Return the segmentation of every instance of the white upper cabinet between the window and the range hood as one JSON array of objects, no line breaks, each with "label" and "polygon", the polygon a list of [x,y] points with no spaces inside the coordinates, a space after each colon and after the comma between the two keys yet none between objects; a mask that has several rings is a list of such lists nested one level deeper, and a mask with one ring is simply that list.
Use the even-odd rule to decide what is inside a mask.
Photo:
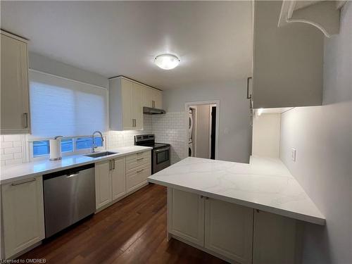
[{"label": "white upper cabinet between the window and the range hood", "polygon": [[142,86],[124,77],[109,82],[111,130],[142,130]]}]

